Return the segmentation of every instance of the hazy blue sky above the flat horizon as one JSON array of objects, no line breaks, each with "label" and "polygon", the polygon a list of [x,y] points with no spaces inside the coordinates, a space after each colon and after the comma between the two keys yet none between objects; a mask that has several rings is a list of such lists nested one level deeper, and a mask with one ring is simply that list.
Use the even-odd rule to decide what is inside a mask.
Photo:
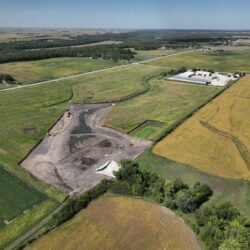
[{"label": "hazy blue sky above the flat horizon", "polygon": [[0,27],[250,29],[250,0],[0,0]]}]

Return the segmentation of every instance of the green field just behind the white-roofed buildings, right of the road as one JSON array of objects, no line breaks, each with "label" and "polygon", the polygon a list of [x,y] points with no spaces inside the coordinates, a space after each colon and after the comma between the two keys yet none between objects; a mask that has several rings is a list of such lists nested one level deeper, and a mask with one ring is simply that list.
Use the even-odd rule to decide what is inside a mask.
[{"label": "green field just behind the white-roofed buildings, right of the road", "polygon": [[250,50],[193,52],[148,62],[149,65],[213,69],[221,72],[250,72]]}]

